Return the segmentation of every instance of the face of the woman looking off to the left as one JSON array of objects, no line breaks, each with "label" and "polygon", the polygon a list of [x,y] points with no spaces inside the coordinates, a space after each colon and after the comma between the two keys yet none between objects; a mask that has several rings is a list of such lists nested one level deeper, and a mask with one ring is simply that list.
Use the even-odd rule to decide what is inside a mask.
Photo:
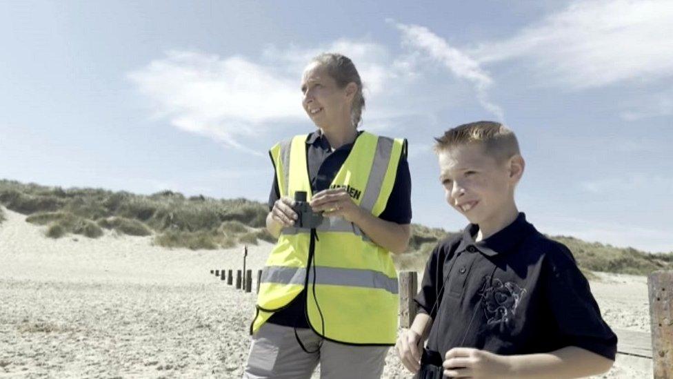
[{"label": "face of the woman looking off to the left", "polygon": [[322,64],[313,62],[306,67],[301,78],[301,92],[301,104],[319,128],[350,124],[352,90],[349,86],[339,88]]}]

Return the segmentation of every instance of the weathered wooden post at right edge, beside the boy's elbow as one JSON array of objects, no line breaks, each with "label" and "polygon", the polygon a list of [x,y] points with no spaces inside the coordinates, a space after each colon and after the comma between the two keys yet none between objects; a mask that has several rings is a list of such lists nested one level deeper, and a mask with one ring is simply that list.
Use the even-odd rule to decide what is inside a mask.
[{"label": "weathered wooden post at right edge, beside the boy's elbow", "polygon": [[654,379],[673,378],[673,271],[647,276]]}]

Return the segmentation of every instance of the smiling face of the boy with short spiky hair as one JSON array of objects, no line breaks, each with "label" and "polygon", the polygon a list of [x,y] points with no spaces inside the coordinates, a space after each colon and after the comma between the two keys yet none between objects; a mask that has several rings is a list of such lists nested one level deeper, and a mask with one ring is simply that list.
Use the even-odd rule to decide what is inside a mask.
[{"label": "smiling face of the boy with short spiky hair", "polygon": [[[454,146],[437,156],[446,201],[472,224],[490,224],[514,205],[514,186],[523,172],[520,156],[497,162],[481,144]],[[513,159],[521,159],[519,172]]]}]

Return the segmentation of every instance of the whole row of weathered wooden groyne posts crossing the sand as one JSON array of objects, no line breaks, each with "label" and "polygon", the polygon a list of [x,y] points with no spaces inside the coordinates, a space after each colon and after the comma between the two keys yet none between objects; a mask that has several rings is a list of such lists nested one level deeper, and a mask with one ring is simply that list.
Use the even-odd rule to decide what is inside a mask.
[{"label": "whole row of weathered wooden groyne posts crossing the sand", "polygon": [[[210,273],[233,284],[232,270]],[[257,271],[257,293],[262,271]],[[252,270],[237,270],[236,288],[252,292]],[[647,277],[650,297],[651,333],[614,329],[619,340],[617,353],[632,360],[652,362],[654,379],[673,378],[673,271],[656,271]],[[399,273],[400,326],[408,328],[416,317],[418,274]]]}]

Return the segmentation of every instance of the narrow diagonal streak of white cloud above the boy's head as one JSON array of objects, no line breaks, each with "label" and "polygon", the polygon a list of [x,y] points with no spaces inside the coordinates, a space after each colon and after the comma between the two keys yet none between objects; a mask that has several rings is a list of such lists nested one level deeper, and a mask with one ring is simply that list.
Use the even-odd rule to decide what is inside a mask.
[{"label": "narrow diagonal streak of white cloud above the boy's head", "polygon": [[[432,59],[439,61],[445,68],[448,68],[455,77],[469,81],[476,90],[481,106],[496,115],[500,121],[504,121],[503,109],[488,99],[488,88],[493,84],[493,79],[488,75],[488,72],[481,68],[478,61],[472,59],[465,52],[450,46],[445,39],[434,34],[428,28],[403,23],[394,23],[394,25],[401,30],[402,41],[405,46],[425,52]],[[418,59],[417,55],[411,55],[410,57]],[[401,64],[408,65],[408,62],[401,61]]]}]

